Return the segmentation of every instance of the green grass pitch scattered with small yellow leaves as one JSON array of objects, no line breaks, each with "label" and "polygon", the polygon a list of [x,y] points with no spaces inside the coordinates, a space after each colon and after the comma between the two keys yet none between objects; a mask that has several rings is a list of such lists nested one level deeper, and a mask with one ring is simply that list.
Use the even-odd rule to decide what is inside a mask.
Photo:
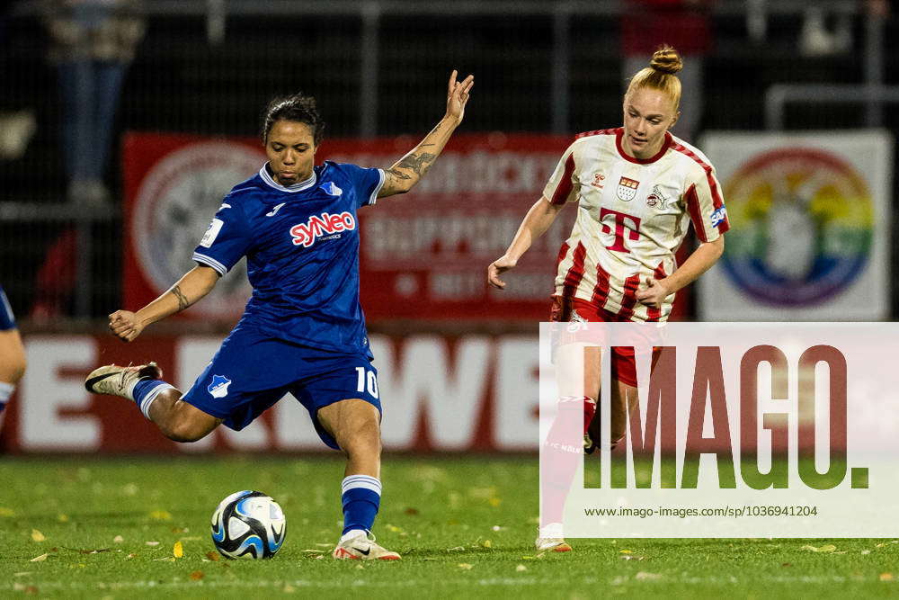
[{"label": "green grass pitch scattered with small yellow leaves", "polygon": [[[403,560],[362,563],[330,558],[342,518],[336,454],[6,457],[0,597],[899,594],[899,542],[889,539],[574,540],[574,552],[538,555],[536,457],[387,456],[384,463],[375,533]],[[218,559],[209,539],[218,501],[246,488],[275,497],[287,515],[287,541],[273,560]]]}]

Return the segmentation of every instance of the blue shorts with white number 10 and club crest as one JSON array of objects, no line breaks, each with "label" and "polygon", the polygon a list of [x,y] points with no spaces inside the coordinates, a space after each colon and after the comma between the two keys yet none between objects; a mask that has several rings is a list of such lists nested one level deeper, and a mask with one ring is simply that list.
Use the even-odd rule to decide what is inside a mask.
[{"label": "blue shorts with white number 10 and club crest", "polygon": [[291,344],[238,325],[182,400],[239,431],[290,392],[309,411],[318,436],[340,447],[318,409],[346,399],[378,408],[378,371],[365,354],[335,354]]}]

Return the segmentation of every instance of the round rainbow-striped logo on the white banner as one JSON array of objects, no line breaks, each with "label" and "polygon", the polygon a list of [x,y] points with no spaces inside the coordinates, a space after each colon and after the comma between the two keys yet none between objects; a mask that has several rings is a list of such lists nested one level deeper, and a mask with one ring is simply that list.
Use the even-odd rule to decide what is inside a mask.
[{"label": "round rainbow-striped logo on the white banner", "polygon": [[724,187],[731,229],[722,264],[753,299],[818,304],[868,264],[871,195],[841,157],[816,148],[773,150],[752,157]]}]

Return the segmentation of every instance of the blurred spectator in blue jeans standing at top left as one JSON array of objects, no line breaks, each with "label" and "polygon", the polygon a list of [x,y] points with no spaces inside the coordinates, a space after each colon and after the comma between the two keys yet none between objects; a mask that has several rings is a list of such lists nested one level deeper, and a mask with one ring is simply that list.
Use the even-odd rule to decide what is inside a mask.
[{"label": "blurred spectator in blue jeans standing at top left", "polygon": [[49,59],[63,103],[68,200],[103,205],[103,173],[125,72],[143,37],[139,0],[49,0]]}]

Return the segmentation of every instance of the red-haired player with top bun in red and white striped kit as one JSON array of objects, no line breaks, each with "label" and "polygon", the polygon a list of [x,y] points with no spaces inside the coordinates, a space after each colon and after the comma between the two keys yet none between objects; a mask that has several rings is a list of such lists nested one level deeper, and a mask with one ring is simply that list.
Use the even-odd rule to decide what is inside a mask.
[{"label": "red-haired player with top bun in red and white striped kit", "polygon": [[[663,322],[674,294],[705,273],[724,252],[729,227],[715,169],[697,148],[669,131],[678,119],[683,62],[675,49],[655,51],[624,95],[623,127],[582,133],[565,150],[543,196],[528,211],[506,253],[487,267],[487,279],[502,289],[500,275],[517,264],[569,202],[577,203],[571,236],[559,251],[550,320],[556,322]],[[692,223],[699,247],[678,265],[674,253]],[[556,354],[556,364],[574,354]],[[584,448],[599,441],[593,416],[600,390],[600,348],[583,345],[583,395],[565,396],[559,410],[582,410]],[[567,358],[566,358],[567,357]],[[612,357],[610,439],[625,432],[628,396],[636,399],[633,353]],[[582,382],[578,381],[580,390]],[[636,402],[632,400],[632,406]],[[598,429],[598,427],[595,427]],[[588,434],[588,431],[590,434]],[[550,430],[552,435],[552,430]],[[543,485],[539,551],[570,551],[562,532],[562,508],[575,461],[562,461],[556,486]],[[570,473],[567,471],[571,471]]]}]

